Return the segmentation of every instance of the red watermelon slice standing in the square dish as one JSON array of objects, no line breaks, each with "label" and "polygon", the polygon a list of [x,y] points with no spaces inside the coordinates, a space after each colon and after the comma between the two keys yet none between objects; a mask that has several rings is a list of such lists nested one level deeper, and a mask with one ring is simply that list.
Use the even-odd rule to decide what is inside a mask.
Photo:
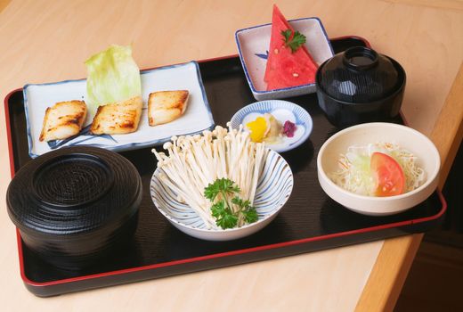
[{"label": "red watermelon slice standing in the square dish", "polygon": [[272,37],[264,75],[267,91],[315,82],[317,63],[313,61],[304,45],[295,52],[285,46],[285,38],[281,32],[288,29],[291,30],[291,38],[294,37],[294,29],[279,8],[273,4]]}]

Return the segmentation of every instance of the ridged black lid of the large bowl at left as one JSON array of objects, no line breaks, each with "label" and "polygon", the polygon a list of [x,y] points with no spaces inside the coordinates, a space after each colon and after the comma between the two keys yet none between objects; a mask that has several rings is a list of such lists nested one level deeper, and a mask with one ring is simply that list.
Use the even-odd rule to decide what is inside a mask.
[{"label": "ridged black lid of the large bowl at left", "polygon": [[122,226],[141,199],[134,165],[116,152],[78,146],[30,160],[8,186],[12,222],[34,234],[86,234]]}]

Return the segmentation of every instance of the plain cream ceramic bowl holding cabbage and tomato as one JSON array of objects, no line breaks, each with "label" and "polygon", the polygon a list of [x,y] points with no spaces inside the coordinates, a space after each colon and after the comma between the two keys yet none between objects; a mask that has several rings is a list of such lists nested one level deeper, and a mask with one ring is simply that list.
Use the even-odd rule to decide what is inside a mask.
[{"label": "plain cream ceramic bowl holding cabbage and tomato", "polygon": [[[374,197],[348,192],[329,179],[327,174],[337,171],[339,154],[345,153],[349,146],[378,142],[399,144],[416,155],[418,165],[426,172],[425,183],[408,193]],[[318,179],[323,191],[345,208],[370,216],[396,214],[425,201],[437,187],[440,166],[439,152],[426,135],[410,127],[382,122],[361,124],[339,131],[321,146],[317,157]]]}]

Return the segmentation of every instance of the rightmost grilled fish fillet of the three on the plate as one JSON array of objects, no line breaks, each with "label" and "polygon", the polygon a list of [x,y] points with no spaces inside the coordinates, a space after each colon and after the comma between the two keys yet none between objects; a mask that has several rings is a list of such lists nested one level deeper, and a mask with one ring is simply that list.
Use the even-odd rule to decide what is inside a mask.
[{"label": "rightmost grilled fish fillet of the three on the plate", "polygon": [[187,90],[150,93],[148,99],[148,123],[150,126],[166,124],[182,116],[186,110],[188,95]]}]

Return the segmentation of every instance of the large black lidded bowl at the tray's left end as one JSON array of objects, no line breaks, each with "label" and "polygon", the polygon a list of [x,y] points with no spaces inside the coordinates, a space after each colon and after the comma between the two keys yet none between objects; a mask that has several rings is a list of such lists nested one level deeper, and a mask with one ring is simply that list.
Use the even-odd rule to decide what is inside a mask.
[{"label": "large black lidded bowl at the tray's left end", "polygon": [[142,179],[116,152],[65,147],[30,160],[6,193],[22,241],[55,267],[79,270],[129,242],[138,221]]}]

